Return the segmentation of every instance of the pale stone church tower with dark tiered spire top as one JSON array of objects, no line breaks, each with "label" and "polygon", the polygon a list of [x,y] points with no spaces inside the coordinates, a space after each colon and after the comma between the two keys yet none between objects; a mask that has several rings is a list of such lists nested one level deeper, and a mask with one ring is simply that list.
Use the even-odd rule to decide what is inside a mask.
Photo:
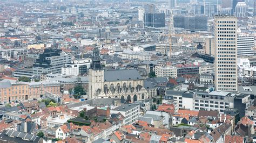
[{"label": "pale stone church tower with dark tiered spire top", "polygon": [[100,89],[103,87],[104,70],[100,65],[99,49],[93,49],[91,68],[89,69],[89,95],[88,99],[97,98]]}]

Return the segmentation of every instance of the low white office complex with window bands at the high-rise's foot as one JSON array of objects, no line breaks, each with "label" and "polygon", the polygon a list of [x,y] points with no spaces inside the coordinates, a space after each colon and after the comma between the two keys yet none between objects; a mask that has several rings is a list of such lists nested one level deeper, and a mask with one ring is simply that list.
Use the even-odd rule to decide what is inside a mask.
[{"label": "low white office complex with window bands at the high-rise's foot", "polygon": [[[226,91],[196,91],[196,92],[182,92],[167,90],[166,96],[172,98],[177,102],[179,109],[185,108],[190,110],[212,110],[218,111],[221,114],[227,109],[239,108],[239,106],[244,106],[244,103],[249,104],[250,101],[252,105],[252,99],[246,96],[245,99],[243,94],[233,94],[232,92]],[[241,98],[244,99],[241,101]],[[235,101],[237,99],[237,102]],[[240,103],[235,105],[235,103]],[[241,104],[242,103],[242,104]],[[245,108],[244,108],[245,111]]]}]

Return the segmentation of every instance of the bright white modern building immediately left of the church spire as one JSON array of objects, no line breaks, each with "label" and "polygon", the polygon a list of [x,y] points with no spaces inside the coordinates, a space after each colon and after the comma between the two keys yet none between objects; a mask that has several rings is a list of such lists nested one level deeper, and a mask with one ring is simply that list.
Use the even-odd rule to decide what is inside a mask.
[{"label": "bright white modern building immediately left of the church spire", "polygon": [[64,67],[62,67],[63,75],[84,75],[87,74],[90,68],[92,60],[90,58],[87,59],[79,59],[71,61],[71,63],[66,63]]}]

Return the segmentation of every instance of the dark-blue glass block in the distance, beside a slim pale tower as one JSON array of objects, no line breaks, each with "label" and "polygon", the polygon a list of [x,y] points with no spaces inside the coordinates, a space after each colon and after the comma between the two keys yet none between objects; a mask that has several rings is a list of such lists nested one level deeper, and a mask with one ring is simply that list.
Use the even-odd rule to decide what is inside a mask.
[{"label": "dark-blue glass block in the distance, beside a slim pale tower", "polygon": [[164,27],[165,13],[144,13],[144,26]]}]

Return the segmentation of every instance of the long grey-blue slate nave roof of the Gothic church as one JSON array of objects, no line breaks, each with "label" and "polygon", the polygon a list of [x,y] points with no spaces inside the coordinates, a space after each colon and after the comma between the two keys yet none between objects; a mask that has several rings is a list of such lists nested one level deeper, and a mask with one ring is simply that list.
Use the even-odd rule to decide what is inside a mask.
[{"label": "long grey-blue slate nave roof of the Gothic church", "polygon": [[143,80],[136,69],[104,71],[104,82]]}]

